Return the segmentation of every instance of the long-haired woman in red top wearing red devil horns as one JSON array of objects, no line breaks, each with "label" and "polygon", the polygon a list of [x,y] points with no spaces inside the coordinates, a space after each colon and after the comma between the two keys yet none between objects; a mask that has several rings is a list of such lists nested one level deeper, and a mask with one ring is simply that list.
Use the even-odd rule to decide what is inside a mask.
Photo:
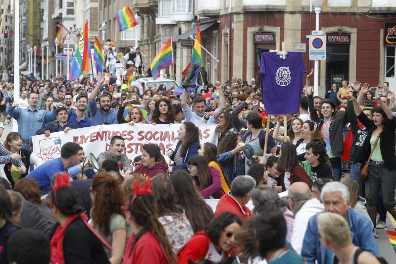
[{"label": "long-haired woman in red top wearing red devil horns", "polygon": [[176,264],[172,247],[165,237],[165,231],[152,209],[153,197],[150,180],[141,186],[133,182],[134,195],[124,210],[125,219],[133,233],[125,249],[123,264]]}]

